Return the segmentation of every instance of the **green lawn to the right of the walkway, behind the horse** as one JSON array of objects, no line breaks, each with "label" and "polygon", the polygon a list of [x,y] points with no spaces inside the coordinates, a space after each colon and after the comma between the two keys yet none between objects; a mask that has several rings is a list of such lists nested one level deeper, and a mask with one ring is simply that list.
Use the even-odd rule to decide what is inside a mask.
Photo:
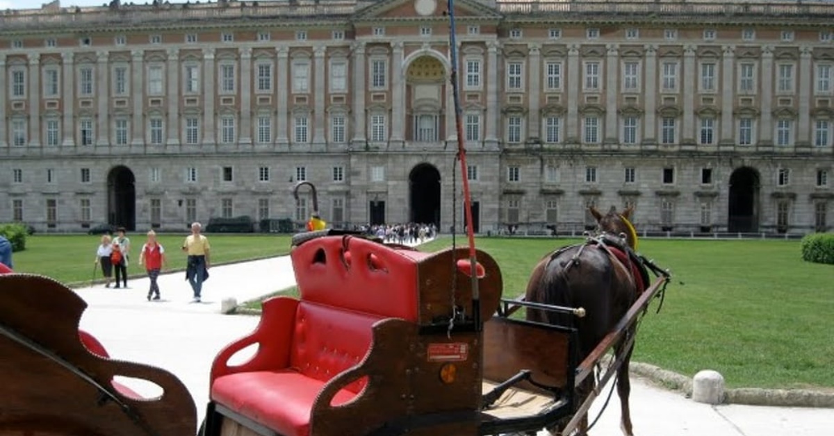
[{"label": "green lawn to the right of the walkway, behind the horse", "polygon": [[[505,297],[515,297],[536,261],[570,242],[476,245],[499,263]],[[421,249],[447,246],[443,238]],[[669,268],[672,283],[661,313],[641,324],[636,361],[690,376],[715,369],[730,387],[834,388],[834,268],[803,262],[798,241],[646,239],[640,251]]]}]

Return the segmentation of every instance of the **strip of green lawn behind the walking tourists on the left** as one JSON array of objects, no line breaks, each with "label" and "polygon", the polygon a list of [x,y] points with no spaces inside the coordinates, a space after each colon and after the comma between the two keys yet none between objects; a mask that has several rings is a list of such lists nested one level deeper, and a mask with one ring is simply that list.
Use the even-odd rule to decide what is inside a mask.
[{"label": "strip of green lawn behind the walking tourists on the left", "polygon": [[[161,234],[158,241],[168,256],[170,269],[185,268],[185,253],[180,249],[186,233]],[[207,234],[211,243],[211,261],[214,265],[254,258],[267,258],[289,253],[287,235],[271,234]],[[144,274],[139,266],[139,250],[147,237],[144,234],[128,234],[131,243],[131,259],[128,277]],[[93,278],[93,261],[100,236],[88,235],[38,235],[27,238],[26,250],[14,253],[14,269],[21,273],[39,273],[55,278],[69,286],[87,286]],[[96,273],[101,278],[101,269]]]}]

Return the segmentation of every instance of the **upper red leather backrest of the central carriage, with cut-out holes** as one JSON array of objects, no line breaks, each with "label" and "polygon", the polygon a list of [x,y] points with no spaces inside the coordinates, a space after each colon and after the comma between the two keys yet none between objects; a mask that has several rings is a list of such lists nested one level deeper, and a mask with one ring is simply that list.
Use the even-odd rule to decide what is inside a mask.
[{"label": "upper red leather backrest of the central carriage, with cut-out holes", "polygon": [[311,239],[291,253],[301,299],[407,321],[417,320],[422,257],[341,236]]}]

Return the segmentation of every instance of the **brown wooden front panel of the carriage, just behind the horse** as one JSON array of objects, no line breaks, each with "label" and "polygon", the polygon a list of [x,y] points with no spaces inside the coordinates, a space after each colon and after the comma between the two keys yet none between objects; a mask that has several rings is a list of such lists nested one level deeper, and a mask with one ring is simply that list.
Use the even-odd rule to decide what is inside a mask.
[{"label": "brown wooden front panel of the carriage, just behind the horse", "polygon": [[[484,324],[484,379],[502,382],[523,369],[536,383],[563,388],[567,384],[569,333],[553,327],[495,317]],[[519,388],[546,393],[530,383]]]}]

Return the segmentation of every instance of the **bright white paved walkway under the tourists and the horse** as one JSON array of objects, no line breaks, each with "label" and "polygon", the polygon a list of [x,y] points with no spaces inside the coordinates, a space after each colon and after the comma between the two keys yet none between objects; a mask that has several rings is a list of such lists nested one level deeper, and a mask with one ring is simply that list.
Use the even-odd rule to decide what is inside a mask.
[{"label": "bright white paved walkway under the tourists and the horse", "polygon": [[[254,316],[220,314],[220,301],[231,297],[243,302],[295,283],[289,257],[215,266],[210,273],[203,303],[190,303],[192,293],[184,273],[159,278],[160,302],[146,300],[148,278],[128,281],[128,289],[103,285],[77,289],[89,304],[81,327],[96,335],[113,358],[152,364],[177,375],[192,393],[200,420],[215,354],[259,321]],[[155,393],[147,385],[128,384],[141,393]],[[591,418],[607,393],[606,387]],[[834,409],[709,406],[640,379],[632,380],[631,411],[639,436],[823,436],[834,428]],[[614,394],[592,434],[620,436],[619,420],[620,404]]]}]

